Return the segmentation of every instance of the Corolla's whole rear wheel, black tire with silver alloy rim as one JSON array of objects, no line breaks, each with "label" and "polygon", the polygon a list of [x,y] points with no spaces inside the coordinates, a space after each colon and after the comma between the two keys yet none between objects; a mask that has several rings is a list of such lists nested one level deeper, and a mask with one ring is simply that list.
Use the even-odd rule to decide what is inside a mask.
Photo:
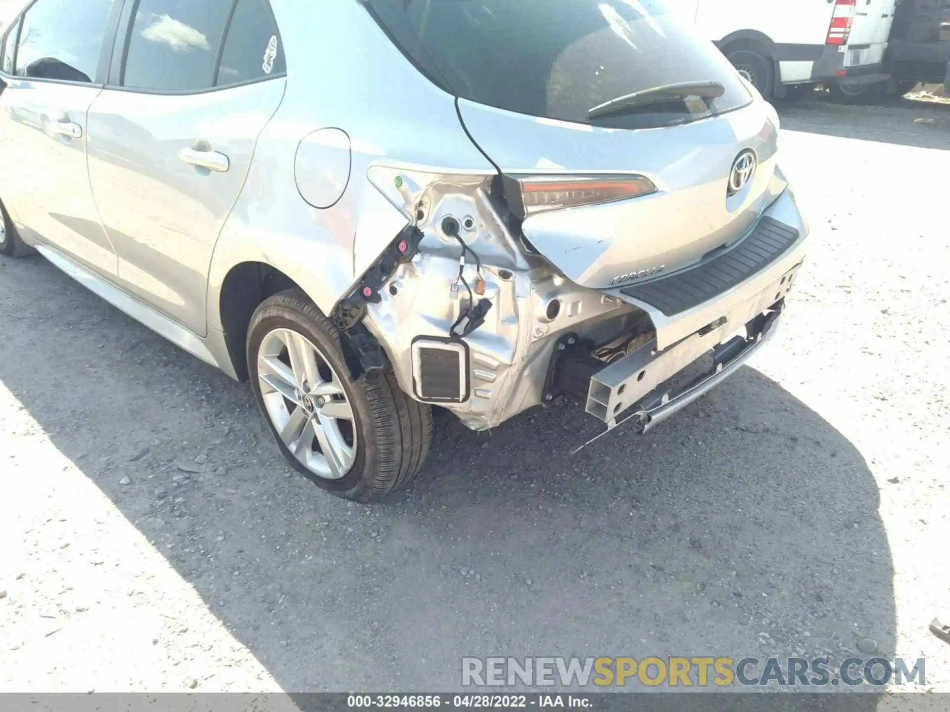
[{"label": "Corolla's whole rear wheel, black tire with silver alloy rim", "polygon": [[431,409],[410,399],[390,369],[353,379],[340,332],[301,290],[257,308],[247,352],[277,447],[318,487],[370,502],[418,473],[431,442]]}]

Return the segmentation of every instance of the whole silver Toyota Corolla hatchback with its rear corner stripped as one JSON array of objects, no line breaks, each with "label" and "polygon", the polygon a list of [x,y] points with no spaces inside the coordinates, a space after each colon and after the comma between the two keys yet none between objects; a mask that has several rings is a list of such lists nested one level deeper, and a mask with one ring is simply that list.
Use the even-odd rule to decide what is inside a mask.
[{"label": "whole silver Toyota Corolla hatchback with its rear corner stripped", "polygon": [[34,0],[0,250],[249,380],[341,497],[416,474],[433,404],[646,431],[769,340],[807,235],[775,112],[675,6]]}]

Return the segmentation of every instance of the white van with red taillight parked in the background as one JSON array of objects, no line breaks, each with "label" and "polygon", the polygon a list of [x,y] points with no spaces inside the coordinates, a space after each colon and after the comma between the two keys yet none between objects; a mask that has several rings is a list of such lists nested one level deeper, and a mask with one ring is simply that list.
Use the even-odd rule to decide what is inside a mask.
[{"label": "white van with red taillight parked in the background", "polygon": [[883,55],[898,0],[669,0],[764,97],[821,82],[860,92],[887,79]]}]

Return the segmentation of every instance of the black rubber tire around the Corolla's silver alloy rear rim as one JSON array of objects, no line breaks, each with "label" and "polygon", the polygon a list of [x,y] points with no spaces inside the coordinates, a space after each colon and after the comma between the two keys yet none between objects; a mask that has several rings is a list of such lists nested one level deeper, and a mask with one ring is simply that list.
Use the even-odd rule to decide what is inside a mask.
[{"label": "black rubber tire around the Corolla's silver alloy rear rim", "polygon": [[[357,443],[355,461],[343,478],[321,478],[311,472],[294,457],[271,422],[257,379],[257,353],[264,337],[276,328],[292,329],[309,339],[343,382]],[[275,294],[251,317],[247,338],[251,386],[280,452],[295,470],[337,497],[377,501],[407,485],[419,472],[432,440],[432,411],[402,391],[390,368],[353,380],[340,338],[339,330],[302,290]]]}]

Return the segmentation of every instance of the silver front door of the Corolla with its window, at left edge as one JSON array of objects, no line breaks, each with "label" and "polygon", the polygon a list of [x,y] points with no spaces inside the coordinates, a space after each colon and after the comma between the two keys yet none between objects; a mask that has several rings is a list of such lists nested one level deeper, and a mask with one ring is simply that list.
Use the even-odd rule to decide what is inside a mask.
[{"label": "silver front door of the Corolla with its window, at left edge", "polygon": [[116,258],[89,190],[85,151],[117,5],[37,0],[8,38],[0,96],[0,196],[34,240],[106,277],[115,275]]}]

